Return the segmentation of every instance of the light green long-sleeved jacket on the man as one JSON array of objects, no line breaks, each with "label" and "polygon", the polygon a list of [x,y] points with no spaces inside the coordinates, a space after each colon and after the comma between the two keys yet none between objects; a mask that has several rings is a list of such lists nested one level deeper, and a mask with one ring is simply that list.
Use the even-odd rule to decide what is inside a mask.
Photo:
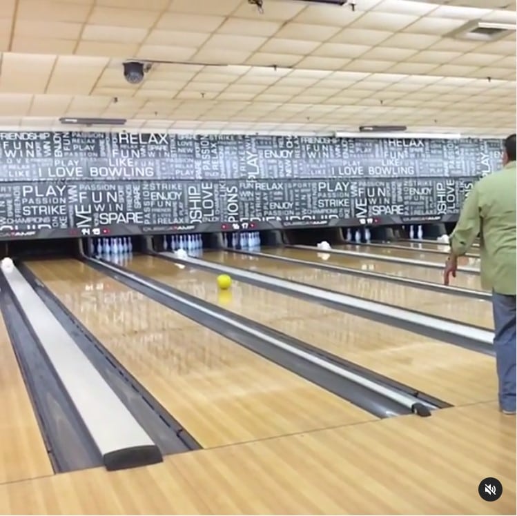
[{"label": "light green long-sleeved jacket on the man", "polygon": [[481,284],[498,294],[516,294],[516,162],[483,177],[469,192],[451,238],[465,255],[480,235]]}]

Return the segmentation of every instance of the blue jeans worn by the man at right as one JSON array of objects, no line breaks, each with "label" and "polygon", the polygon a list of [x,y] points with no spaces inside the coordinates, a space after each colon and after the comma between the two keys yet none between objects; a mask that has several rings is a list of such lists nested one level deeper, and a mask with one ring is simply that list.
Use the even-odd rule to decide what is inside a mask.
[{"label": "blue jeans worn by the man at right", "polygon": [[494,312],[494,348],[496,349],[499,379],[499,406],[502,410],[516,410],[516,297],[492,292]]}]

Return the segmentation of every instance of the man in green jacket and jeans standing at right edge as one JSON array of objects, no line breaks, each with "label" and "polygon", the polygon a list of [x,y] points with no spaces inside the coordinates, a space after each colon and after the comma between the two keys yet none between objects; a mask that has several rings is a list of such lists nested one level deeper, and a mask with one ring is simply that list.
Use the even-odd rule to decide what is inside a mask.
[{"label": "man in green jacket and jeans standing at right edge", "polygon": [[492,291],[499,407],[516,413],[516,135],[505,140],[503,170],[474,185],[450,238],[444,284],[456,277],[458,256],[480,235],[481,283]]}]

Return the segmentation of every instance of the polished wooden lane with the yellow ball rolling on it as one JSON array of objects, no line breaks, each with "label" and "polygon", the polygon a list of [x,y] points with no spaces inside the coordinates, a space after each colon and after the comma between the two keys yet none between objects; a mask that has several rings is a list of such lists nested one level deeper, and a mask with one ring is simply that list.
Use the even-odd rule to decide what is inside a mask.
[{"label": "polished wooden lane with the yellow ball rolling on it", "polygon": [[241,281],[220,292],[215,274],[155,257],[135,257],[126,267],[451,404],[496,396],[494,359],[487,355]]}]

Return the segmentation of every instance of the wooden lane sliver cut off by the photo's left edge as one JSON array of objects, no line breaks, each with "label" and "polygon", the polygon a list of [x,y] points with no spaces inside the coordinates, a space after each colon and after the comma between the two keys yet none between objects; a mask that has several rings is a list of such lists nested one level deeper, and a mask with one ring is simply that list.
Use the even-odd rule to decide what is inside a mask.
[{"label": "wooden lane sliver cut off by the photo's left edge", "polygon": [[46,446],[0,315],[0,484],[52,475]]}]

